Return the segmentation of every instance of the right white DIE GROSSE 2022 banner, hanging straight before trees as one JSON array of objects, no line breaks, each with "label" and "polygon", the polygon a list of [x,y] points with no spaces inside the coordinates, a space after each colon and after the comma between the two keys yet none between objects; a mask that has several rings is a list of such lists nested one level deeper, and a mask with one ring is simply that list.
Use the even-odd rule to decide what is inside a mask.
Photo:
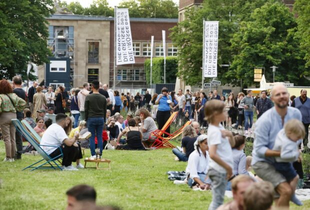
[{"label": "right white DIE GROSSE 2022 banner, hanging straight before trees", "polygon": [[217,77],[218,21],[204,21],[203,76]]}]

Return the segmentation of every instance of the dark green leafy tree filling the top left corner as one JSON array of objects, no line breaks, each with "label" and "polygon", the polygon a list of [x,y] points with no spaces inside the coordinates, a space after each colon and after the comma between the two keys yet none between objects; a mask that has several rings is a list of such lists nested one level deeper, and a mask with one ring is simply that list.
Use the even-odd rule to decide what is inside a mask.
[{"label": "dark green leafy tree filling the top left corner", "polygon": [[[16,74],[26,78],[27,62],[49,62],[48,22],[52,0],[0,1],[0,74],[11,79]],[[34,76],[30,75],[30,79]]]}]

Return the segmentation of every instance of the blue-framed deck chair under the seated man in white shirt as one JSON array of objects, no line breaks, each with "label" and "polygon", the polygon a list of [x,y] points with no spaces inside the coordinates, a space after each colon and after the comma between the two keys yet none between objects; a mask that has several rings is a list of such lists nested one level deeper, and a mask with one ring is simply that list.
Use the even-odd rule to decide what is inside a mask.
[{"label": "blue-framed deck chair under the seated man in white shirt", "polygon": [[[43,157],[43,159],[23,168],[22,170],[26,168],[32,168],[31,170],[35,169],[56,169],[59,168],[62,170],[61,166],[57,164],[56,160],[63,156],[63,153],[61,151],[60,146],[51,146],[51,145],[42,145],[38,144],[35,139],[33,139],[33,136],[31,136],[29,130],[26,129],[26,127],[18,120],[18,119],[12,119],[12,123],[16,127],[16,130],[21,133],[25,137],[25,139],[36,149],[36,151]],[[32,133],[34,135],[34,133]],[[55,147],[60,148],[61,154],[58,156],[51,158],[43,149],[41,146],[48,146],[48,147]],[[43,161],[43,163],[42,163]],[[35,166],[36,164],[39,164]],[[47,164],[47,165],[46,165]],[[48,165],[49,164],[49,165]]]}]

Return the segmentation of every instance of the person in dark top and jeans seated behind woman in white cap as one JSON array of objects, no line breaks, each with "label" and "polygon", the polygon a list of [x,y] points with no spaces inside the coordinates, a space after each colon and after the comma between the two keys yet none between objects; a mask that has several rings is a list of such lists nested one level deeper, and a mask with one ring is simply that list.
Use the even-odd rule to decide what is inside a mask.
[{"label": "person in dark top and jeans seated behind woman in white cap", "polygon": [[178,148],[173,148],[172,152],[180,161],[186,162],[188,160],[191,152],[194,151],[194,142],[197,139],[197,134],[195,129],[190,125],[186,125],[182,131],[181,146],[183,151],[178,150]]}]

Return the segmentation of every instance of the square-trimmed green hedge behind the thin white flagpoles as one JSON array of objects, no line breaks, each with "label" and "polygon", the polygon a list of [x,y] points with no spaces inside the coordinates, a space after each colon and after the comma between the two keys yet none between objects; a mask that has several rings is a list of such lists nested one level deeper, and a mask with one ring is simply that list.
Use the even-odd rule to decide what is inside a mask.
[{"label": "square-trimmed green hedge behind the thin white flagpoles", "polygon": [[[177,72],[177,58],[173,56],[166,57],[166,83],[175,83]],[[164,78],[164,59],[163,57],[152,58],[152,83],[163,83]],[[144,61],[144,70],[146,82],[150,82],[150,59]]]}]

